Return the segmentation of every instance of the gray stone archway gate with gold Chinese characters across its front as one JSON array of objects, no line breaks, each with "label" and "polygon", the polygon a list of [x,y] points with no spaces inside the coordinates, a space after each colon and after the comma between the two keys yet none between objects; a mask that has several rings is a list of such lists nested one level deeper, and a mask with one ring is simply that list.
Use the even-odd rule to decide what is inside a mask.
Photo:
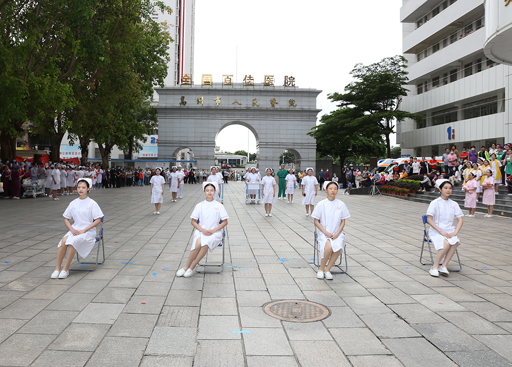
[{"label": "gray stone archway gate with gold Chinese characters across its front", "polygon": [[[256,137],[260,169],[279,166],[279,155],[292,149],[296,167],[313,167],[316,140],[309,135],[315,126],[316,97],[321,91],[275,85],[180,84],[155,88],[159,95],[158,158],[172,159],[186,146],[198,168],[215,163],[215,137],[225,126],[240,124]],[[235,137],[246,140],[247,137]],[[297,157],[297,154],[300,157]]]}]

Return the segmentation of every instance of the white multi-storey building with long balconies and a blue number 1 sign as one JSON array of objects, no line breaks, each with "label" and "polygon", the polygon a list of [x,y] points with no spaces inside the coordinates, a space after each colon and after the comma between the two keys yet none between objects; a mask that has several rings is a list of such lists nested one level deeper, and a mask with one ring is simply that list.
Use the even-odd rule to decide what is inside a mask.
[{"label": "white multi-storey building with long balconies and a blue number 1 sign", "polygon": [[400,20],[409,73],[401,109],[425,116],[398,124],[402,154],[512,141],[512,68],[484,52],[484,0],[403,0]]}]

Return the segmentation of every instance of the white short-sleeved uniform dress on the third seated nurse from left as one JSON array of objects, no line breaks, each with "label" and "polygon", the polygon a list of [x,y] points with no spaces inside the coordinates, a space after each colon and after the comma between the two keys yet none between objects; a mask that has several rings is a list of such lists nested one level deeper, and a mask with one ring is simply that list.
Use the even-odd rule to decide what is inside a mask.
[{"label": "white short-sleeved uniform dress on the third seated nurse from left", "polygon": [[[334,199],[330,201],[329,199],[324,199],[315,206],[315,210],[313,210],[311,216],[318,219],[327,232],[334,234],[340,229],[341,220],[350,218],[350,213],[345,203],[341,200]],[[340,235],[335,240],[327,239],[325,234],[320,230],[317,231],[317,233],[321,258],[323,258],[327,240],[331,241],[331,247],[334,252],[345,248],[345,232],[341,231]]]}]

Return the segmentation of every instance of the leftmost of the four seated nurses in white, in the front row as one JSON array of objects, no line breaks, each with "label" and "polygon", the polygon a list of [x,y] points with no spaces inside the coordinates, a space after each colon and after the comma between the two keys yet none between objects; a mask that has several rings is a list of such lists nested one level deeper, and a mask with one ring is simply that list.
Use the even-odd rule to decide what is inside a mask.
[{"label": "leftmost of the four seated nurses in white, in the front row", "polygon": [[[91,187],[91,179],[78,180],[77,190],[80,197],[69,203],[66,211],[62,214],[64,224],[69,231],[57,245],[57,265],[51,275],[52,279],[66,278],[69,275],[69,266],[73,262],[75,253],[78,252],[81,257],[87,257],[96,242],[95,227],[101,223],[103,212],[99,205],[87,196]],[[71,218],[73,218],[73,224],[69,222]],[[65,256],[67,256],[66,263],[61,270],[60,267]]]}]

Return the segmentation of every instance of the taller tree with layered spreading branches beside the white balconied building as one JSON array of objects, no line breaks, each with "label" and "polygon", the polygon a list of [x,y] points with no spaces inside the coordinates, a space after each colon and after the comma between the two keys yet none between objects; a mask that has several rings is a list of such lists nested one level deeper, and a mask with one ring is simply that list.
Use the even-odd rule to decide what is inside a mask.
[{"label": "taller tree with layered spreading branches beside the white balconied building", "polygon": [[400,110],[402,97],[407,95],[406,67],[403,56],[386,57],[369,66],[358,63],[350,72],[356,80],[345,87],[345,93],[329,95],[331,100],[339,102],[339,107],[353,107],[359,113],[354,120],[357,126],[378,127],[385,139],[387,158],[391,158],[390,134],[395,132],[395,124],[406,118],[415,121],[424,118]]}]

